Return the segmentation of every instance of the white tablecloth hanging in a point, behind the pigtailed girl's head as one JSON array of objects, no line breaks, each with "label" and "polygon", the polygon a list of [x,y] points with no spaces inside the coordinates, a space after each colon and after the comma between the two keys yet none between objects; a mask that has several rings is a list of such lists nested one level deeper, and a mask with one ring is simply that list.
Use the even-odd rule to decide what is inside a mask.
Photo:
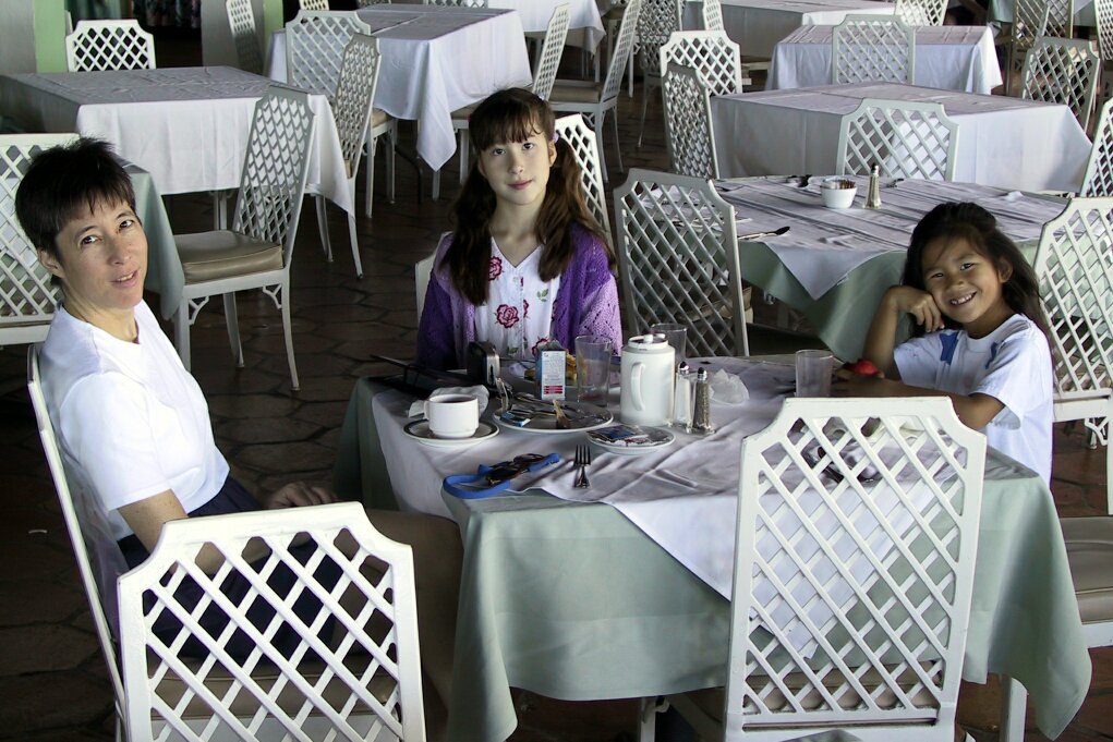
[{"label": "white tablecloth hanging in a point, behind the pigtailed girl's head", "polygon": [[[417,121],[417,154],[434,169],[456,151],[452,111],[533,81],[514,11],[400,4],[358,13],[383,55],[375,108]],[[267,76],[286,80],[283,31],[272,37]]]}]

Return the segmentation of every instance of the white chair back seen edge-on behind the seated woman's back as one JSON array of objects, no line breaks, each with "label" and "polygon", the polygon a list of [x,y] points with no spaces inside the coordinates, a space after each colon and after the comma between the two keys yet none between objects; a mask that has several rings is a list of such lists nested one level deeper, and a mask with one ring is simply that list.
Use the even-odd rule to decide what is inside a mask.
[{"label": "white chair back seen edge-on behind the seated woman's back", "polygon": [[73,557],[77,560],[78,573],[89,601],[89,612],[97,629],[100,650],[105,654],[108,675],[112,683],[114,703],[116,706],[116,739],[124,739],[121,728],[127,705],[124,695],[124,681],[120,676],[117,643],[119,636],[119,614],[116,601],[116,578],[127,572],[124,554],[116,545],[116,538],[108,525],[107,518],[98,508],[90,507],[81,486],[75,482],[70,487],[66,464],[55,426],[50,422],[47,400],[42,395],[42,379],[39,374],[39,346],[28,347],[27,354],[27,390],[35,408],[35,418],[39,426],[39,438],[42,441],[42,452],[47,456],[50,478],[55,483],[55,493],[61,506],[62,520],[69,534]]}]

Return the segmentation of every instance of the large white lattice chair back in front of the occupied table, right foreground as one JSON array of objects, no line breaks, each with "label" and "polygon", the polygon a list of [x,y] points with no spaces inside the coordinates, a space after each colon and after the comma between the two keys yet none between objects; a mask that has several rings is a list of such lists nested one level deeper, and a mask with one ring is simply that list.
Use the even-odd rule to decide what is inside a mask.
[{"label": "large white lattice chair back in front of the occupied table, right foreground", "polygon": [[725,739],[952,739],[984,466],[939,397],[788,399],[742,442]]}]

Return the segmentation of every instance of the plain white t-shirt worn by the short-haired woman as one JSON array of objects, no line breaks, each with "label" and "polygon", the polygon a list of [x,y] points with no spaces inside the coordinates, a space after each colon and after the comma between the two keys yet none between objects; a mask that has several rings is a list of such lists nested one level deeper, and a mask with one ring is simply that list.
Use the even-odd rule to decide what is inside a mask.
[{"label": "plain white t-shirt worn by the short-haired woman", "polygon": [[[76,484],[119,540],[117,508],[173,489],[190,513],[228,476],[208,405],[147,304],[127,343],[59,307],[42,346],[42,390]],[[75,493],[77,495],[77,493]]]}]

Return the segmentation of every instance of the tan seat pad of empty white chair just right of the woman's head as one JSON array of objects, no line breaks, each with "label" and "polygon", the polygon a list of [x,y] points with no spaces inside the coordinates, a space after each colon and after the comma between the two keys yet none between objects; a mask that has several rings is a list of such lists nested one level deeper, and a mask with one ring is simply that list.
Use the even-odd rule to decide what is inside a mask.
[{"label": "tan seat pad of empty white chair just right of the woman's head", "polygon": [[280,270],[282,246],[230,230],[175,235],[187,284]]}]

